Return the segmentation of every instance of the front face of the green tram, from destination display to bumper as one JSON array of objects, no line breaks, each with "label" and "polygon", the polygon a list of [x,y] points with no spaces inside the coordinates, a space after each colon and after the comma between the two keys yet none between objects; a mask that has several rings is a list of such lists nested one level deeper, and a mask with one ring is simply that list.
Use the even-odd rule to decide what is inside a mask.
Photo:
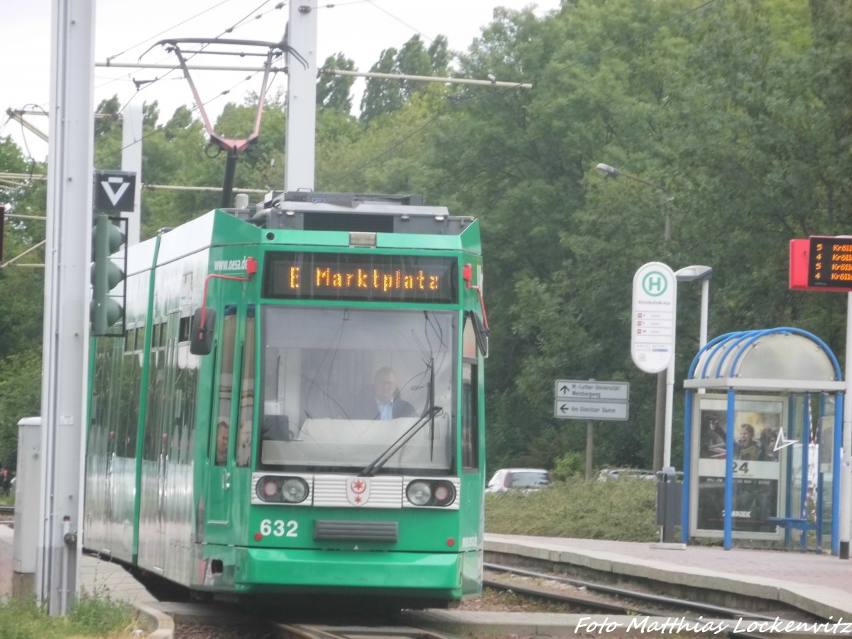
[{"label": "front face of the green tram, from destination display to bumper", "polygon": [[237,589],[431,607],[479,592],[458,256],[270,251],[265,262]]}]

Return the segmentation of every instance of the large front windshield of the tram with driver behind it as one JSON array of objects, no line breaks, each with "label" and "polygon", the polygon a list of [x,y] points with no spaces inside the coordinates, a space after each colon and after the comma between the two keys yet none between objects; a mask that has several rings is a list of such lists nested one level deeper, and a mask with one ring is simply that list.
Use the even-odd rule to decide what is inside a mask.
[{"label": "large front windshield of the tram with driver behind it", "polygon": [[455,318],[267,306],[260,467],[449,473]]}]

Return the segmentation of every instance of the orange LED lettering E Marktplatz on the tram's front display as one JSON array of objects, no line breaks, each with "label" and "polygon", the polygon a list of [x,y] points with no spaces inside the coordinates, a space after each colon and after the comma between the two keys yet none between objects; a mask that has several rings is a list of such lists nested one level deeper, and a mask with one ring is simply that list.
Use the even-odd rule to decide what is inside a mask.
[{"label": "orange LED lettering E Marktplatz on the tram's front display", "polygon": [[[291,266],[287,279],[291,290],[302,287],[302,268]],[[380,268],[357,268],[338,271],[332,268],[315,267],[311,277],[314,289],[338,289],[360,291],[438,291],[440,276],[418,270],[403,273],[399,269],[383,271]]]}]

